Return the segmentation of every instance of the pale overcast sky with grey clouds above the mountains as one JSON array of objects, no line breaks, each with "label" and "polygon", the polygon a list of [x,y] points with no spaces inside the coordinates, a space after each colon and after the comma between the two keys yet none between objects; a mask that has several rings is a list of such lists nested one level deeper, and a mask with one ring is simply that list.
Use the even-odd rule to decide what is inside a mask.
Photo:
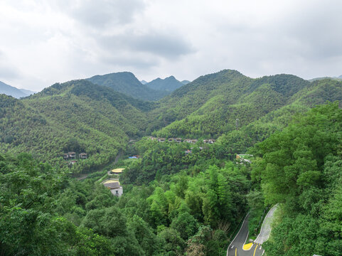
[{"label": "pale overcast sky with grey clouds above the mountains", "polygon": [[342,75],[341,0],[0,0],[0,81]]}]

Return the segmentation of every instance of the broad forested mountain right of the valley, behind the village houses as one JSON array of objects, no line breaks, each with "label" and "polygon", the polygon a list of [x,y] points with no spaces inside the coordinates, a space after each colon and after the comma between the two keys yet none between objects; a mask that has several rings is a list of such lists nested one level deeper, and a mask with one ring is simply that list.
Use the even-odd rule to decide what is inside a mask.
[{"label": "broad forested mountain right of the valley, behind the village houses", "polygon": [[225,134],[245,150],[282,129],[294,113],[327,100],[342,100],[341,89],[342,83],[335,80],[309,82],[294,75],[251,79],[223,70],[198,78],[162,99],[152,111],[156,119],[149,129],[159,130],[156,135],[160,137],[216,138]]}]

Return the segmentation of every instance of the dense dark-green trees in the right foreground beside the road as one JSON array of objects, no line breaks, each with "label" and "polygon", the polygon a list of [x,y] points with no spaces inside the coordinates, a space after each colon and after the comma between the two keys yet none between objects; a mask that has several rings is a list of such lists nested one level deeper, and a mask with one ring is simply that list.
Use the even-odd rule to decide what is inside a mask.
[{"label": "dense dark-green trees in the right foreground beside the road", "polygon": [[281,203],[267,255],[341,255],[342,110],[338,103],[296,117],[257,144],[252,168],[265,204]]}]

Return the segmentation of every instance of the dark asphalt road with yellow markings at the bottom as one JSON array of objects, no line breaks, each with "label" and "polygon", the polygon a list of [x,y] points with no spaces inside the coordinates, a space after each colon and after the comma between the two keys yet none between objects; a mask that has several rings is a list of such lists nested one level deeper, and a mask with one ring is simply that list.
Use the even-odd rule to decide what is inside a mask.
[{"label": "dark asphalt road with yellow markings at the bottom", "polygon": [[249,215],[247,214],[239,233],[237,233],[233,242],[231,242],[228,247],[227,256],[261,256],[264,253],[262,245],[257,243],[253,243],[250,250],[242,249],[242,246],[245,245],[245,242],[248,238],[248,219]]}]

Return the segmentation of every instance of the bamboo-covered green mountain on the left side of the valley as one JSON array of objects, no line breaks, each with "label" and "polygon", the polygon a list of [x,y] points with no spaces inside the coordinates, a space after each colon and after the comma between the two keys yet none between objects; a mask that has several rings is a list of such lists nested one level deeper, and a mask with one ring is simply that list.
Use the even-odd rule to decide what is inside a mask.
[{"label": "bamboo-covered green mountain on the left side of the valley", "polygon": [[25,100],[1,95],[0,102],[1,151],[27,151],[49,162],[68,151],[87,153],[75,171],[108,163],[129,137],[144,134],[151,107],[87,80],[55,84]]}]

